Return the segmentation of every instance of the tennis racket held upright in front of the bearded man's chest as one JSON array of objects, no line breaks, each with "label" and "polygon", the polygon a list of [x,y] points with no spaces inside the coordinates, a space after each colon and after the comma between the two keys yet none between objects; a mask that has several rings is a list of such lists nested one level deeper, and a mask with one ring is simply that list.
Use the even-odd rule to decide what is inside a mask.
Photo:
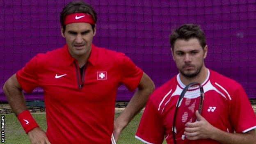
[{"label": "tennis racket held upright in front of the bearded man's chest", "polygon": [[198,110],[199,114],[201,114],[203,99],[203,87],[197,82],[190,83],[181,92],[176,105],[172,127],[174,144],[176,144],[177,140],[188,140],[185,139],[184,135],[186,123],[197,120],[195,112]]}]

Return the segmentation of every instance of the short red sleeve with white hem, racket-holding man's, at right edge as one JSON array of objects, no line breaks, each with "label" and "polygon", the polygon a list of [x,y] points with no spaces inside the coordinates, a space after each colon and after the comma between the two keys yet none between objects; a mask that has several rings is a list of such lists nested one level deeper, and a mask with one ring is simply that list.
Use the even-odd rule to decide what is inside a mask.
[{"label": "short red sleeve with white hem, racket-holding man's, at right edge", "polygon": [[246,133],[256,128],[256,115],[245,90],[239,85],[231,100],[231,123],[236,133]]}]

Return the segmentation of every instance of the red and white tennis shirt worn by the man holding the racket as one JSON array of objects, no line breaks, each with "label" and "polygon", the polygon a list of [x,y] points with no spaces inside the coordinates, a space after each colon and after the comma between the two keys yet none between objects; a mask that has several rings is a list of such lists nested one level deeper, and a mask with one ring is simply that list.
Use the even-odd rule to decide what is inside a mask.
[{"label": "red and white tennis shirt worn by the man holding the racket", "polygon": [[[208,70],[203,82],[204,101],[201,115],[220,130],[246,133],[256,128],[256,116],[245,90],[238,82]],[[139,123],[136,138],[146,144],[162,144],[164,138],[173,144],[172,125],[176,103],[185,85],[179,74],[156,89],[150,96]],[[177,135],[182,135],[177,132]],[[177,137],[177,144],[187,139]],[[212,139],[190,141],[190,144],[219,144]]]}]

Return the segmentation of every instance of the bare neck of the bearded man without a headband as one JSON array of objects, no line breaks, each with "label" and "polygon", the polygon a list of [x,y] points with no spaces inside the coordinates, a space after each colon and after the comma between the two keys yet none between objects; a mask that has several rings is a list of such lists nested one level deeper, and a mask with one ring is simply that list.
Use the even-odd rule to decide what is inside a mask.
[{"label": "bare neck of the bearded man without a headband", "polygon": [[180,73],[180,79],[184,85],[188,85],[191,82],[198,82],[202,84],[206,80],[207,76],[208,76],[208,69],[205,66],[202,66],[200,73],[198,73],[198,75],[193,78],[187,78]]}]

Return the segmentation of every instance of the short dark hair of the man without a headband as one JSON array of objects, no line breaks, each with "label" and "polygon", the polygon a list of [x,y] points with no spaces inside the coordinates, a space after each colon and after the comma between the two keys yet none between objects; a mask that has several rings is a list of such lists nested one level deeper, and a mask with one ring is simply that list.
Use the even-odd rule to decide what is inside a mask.
[{"label": "short dark hair of the man without a headband", "polygon": [[184,24],[170,34],[171,48],[174,48],[174,43],[177,39],[189,40],[191,38],[197,38],[202,48],[206,46],[205,34],[200,26],[197,24]]}]

